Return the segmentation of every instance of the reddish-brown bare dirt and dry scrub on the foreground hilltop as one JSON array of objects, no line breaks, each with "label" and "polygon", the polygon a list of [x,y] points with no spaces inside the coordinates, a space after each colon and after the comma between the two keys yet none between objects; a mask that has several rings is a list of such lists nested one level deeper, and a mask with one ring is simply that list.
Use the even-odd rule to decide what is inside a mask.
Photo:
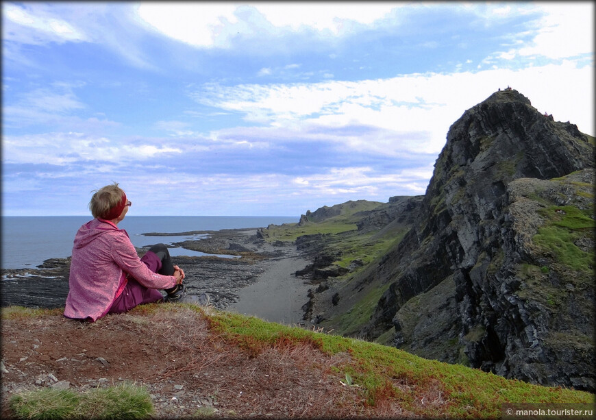
[{"label": "reddish-brown bare dirt and dry scrub on the foreground hilltop", "polygon": [[[171,304],[173,305],[173,304]],[[407,415],[367,406],[362,390],[340,383],[349,355],[308,344],[275,345],[258,354],[210,329],[184,305],[141,306],[96,323],[49,316],[3,318],[2,411],[14,393],[45,386],[86,391],[134,382],[147,387],[154,417],[349,418]],[[207,311],[211,310],[206,308]],[[333,367],[338,367],[333,369]]]}]

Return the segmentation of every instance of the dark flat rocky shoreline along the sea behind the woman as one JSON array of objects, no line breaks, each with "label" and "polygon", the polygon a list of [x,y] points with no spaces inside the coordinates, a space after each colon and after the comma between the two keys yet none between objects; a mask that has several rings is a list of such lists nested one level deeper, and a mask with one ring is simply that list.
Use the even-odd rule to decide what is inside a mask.
[{"label": "dark flat rocky shoreline along the sea behind the woman", "polygon": [[[182,234],[188,234],[184,232]],[[215,308],[226,309],[238,302],[240,289],[256,284],[260,275],[275,264],[287,259],[300,258],[296,246],[288,243],[266,243],[258,235],[258,230],[230,229],[209,232],[199,240],[187,240],[173,246],[184,247],[207,254],[227,254],[234,258],[219,256],[173,256],[175,264],[186,273],[186,286],[189,293],[208,293]],[[160,236],[179,236],[160,234]],[[157,236],[151,233],[151,236]],[[139,255],[147,249],[138,248]],[[1,270],[1,305],[25,307],[59,308],[69,292],[70,258],[51,258],[35,269]],[[305,263],[308,262],[305,260]],[[306,280],[295,272],[284,273],[284,279],[304,283]],[[303,302],[308,297],[305,293]]]}]

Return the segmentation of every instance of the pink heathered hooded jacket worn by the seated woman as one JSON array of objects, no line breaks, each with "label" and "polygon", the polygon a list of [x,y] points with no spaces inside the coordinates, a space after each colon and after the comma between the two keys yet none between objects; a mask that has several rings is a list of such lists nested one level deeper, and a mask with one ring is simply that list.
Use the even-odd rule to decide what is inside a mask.
[{"label": "pink heathered hooded jacket worn by the seated woman", "polygon": [[122,293],[127,274],[147,288],[176,284],[173,275],[153,273],[141,262],[125,230],[103,219],[85,223],[75,236],[64,316],[103,317]]}]

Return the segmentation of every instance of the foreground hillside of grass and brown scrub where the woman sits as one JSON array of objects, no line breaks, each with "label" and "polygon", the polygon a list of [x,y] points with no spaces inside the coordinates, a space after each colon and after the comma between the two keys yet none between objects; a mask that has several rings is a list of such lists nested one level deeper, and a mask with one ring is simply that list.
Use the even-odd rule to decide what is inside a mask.
[{"label": "foreground hillside of grass and brown scrub where the woman sits", "polygon": [[[10,406],[10,414],[16,417],[52,418],[55,404],[47,400],[40,404],[40,393],[49,398],[71,393],[64,401],[73,407],[62,407],[58,417],[85,417],[82,408],[113,408],[110,402],[124,393],[129,399],[133,395],[135,404],[145,412],[112,413],[112,418],[175,417],[179,411],[164,411],[170,406],[157,404],[160,395],[155,390],[167,381],[181,384],[179,388],[193,394],[197,402],[207,397],[217,401],[194,406],[185,402],[187,417],[497,418],[503,404],[594,402],[594,395],[589,393],[506,380],[460,365],[425,360],[393,347],[192,305],[150,304],[92,324],[64,319],[59,310],[10,307],[2,310],[2,327],[3,343],[16,341],[25,351],[40,343],[39,353],[43,349],[47,355],[51,354],[49,346],[68,341],[60,348],[61,353],[55,353],[60,359],[36,358],[36,352],[29,352],[29,365],[8,351],[10,348],[3,349],[3,365],[8,372],[3,374],[3,385],[15,380],[16,375],[10,376],[15,371],[26,372],[26,366],[34,369],[34,365],[68,378],[73,385],[98,380],[77,379],[74,373],[68,376],[66,370],[56,368],[63,358],[74,358],[82,351],[79,345],[90,352],[88,337],[93,337],[105,347],[102,354],[111,359],[108,369],[97,363],[101,369],[96,374],[107,378],[107,383],[135,382],[138,388],[134,393],[129,386],[112,386],[110,393],[101,395],[92,390],[77,392],[76,386],[71,386],[69,391],[51,394],[47,387],[35,385],[32,372],[20,379],[21,392],[3,393],[3,416]],[[44,338],[48,330],[51,335]],[[130,370],[144,365],[153,351],[153,356],[162,360],[160,365],[149,371]],[[129,353],[132,356],[127,358]],[[131,364],[134,366],[123,370]],[[112,369],[117,366],[120,368]],[[313,395],[316,401],[309,399]],[[181,401],[183,398],[179,396]],[[95,404],[89,405],[90,399]],[[101,399],[106,399],[105,404]],[[33,415],[29,410],[32,406]],[[101,417],[101,411],[90,414]]]}]

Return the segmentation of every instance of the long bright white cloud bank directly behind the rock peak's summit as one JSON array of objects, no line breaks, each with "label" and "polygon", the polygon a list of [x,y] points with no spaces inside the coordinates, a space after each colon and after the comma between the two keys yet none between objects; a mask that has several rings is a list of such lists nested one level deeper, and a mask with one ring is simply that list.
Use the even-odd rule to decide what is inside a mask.
[{"label": "long bright white cloud bank directly behind the rock peak's summit", "polygon": [[[559,121],[571,121],[593,134],[593,72],[572,62],[519,71],[428,73],[360,82],[208,84],[190,96],[215,108],[242,112],[247,121],[268,130],[277,127],[307,138],[316,138],[307,134],[316,132],[314,127],[363,125],[381,130],[377,138],[358,132],[336,136],[336,141],[355,151],[438,153],[449,127],[465,110],[506,86],[519,90],[540,112],[547,110]],[[211,134],[217,136],[217,132]]]}]

